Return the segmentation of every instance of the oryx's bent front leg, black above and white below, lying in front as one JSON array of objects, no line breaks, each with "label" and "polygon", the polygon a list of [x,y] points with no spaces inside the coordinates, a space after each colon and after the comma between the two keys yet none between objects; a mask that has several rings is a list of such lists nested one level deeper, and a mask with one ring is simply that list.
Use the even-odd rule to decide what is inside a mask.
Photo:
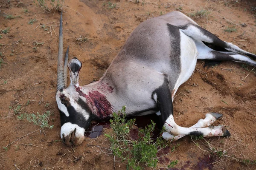
[{"label": "oryx's bent front leg, black above and white below, lying in front", "polygon": [[[154,91],[154,99],[160,110],[160,122],[164,122],[166,131],[173,135],[203,135],[204,137],[212,136],[230,136],[230,133],[224,126],[215,127],[181,127],[177,125],[173,117],[172,95],[169,89],[169,81],[166,79],[163,85]],[[166,119],[166,117],[168,118]]]}]

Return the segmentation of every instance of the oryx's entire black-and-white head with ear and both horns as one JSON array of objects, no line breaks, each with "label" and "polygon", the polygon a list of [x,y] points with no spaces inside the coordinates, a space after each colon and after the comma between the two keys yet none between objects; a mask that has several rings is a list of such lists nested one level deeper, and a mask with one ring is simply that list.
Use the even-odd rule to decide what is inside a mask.
[{"label": "oryx's entire black-and-white head with ear and both horns", "polygon": [[[67,48],[64,62],[61,12],[56,102],[61,116],[61,139],[67,145],[77,145],[84,141],[84,131],[91,119],[86,103],[76,91],[77,88],[80,88],[78,78],[82,63],[77,58],[73,58],[67,64],[68,51],[69,48]],[[67,87],[67,68],[70,71],[69,87]]]}]

